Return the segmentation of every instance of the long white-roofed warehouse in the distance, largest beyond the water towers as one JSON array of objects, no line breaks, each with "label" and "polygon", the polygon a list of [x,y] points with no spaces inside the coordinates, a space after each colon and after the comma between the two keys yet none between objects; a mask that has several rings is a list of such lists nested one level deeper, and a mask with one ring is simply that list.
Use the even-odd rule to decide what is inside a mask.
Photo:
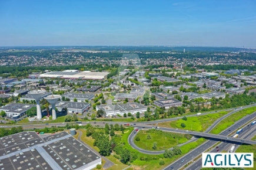
[{"label": "long white-roofed warehouse in the distance, largest beyond the water towers", "polygon": [[89,79],[89,80],[104,80],[107,79],[108,72],[48,72],[40,74],[41,78],[59,78],[59,79]]}]

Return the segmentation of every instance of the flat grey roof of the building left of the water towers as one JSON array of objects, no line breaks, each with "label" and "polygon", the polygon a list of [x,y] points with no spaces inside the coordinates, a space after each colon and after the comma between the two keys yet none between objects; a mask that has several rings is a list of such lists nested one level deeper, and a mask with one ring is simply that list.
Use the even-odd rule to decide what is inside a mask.
[{"label": "flat grey roof of the building left of the water towers", "polygon": [[4,107],[0,107],[0,111],[4,110],[8,113],[24,113],[29,110],[29,108],[35,107],[35,104],[24,104],[24,103],[10,103],[5,105]]}]

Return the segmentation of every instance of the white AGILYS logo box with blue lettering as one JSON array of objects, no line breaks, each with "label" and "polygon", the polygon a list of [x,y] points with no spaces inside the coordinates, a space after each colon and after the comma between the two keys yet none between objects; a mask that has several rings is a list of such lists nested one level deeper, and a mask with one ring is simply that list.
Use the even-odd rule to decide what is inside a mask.
[{"label": "white AGILYS logo box with blue lettering", "polygon": [[253,153],[202,153],[202,168],[253,168]]}]

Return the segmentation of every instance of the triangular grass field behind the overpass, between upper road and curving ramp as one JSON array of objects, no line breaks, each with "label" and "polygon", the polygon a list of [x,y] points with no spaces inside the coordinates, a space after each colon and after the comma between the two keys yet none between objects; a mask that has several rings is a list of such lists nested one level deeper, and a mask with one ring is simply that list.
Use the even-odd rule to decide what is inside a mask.
[{"label": "triangular grass field behind the overpass, between upper road and curving ramp", "polygon": [[[197,117],[187,117],[187,120],[176,120],[167,121],[164,123],[158,123],[160,127],[171,127],[171,128],[181,128],[185,130],[200,131],[203,132],[214,123],[215,120],[227,114],[227,111],[220,111],[218,113],[212,113],[207,115],[198,115]],[[181,123],[184,123],[186,127],[182,128]]]}]

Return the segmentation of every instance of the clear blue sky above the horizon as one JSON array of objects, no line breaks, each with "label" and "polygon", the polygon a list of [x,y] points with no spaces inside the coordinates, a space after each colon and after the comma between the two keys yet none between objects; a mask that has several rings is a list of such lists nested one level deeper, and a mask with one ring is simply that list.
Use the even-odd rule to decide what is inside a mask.
[{"label": "clear blue sky above the horizon", "polygon": [[0,46],[256,47],[256,1],[0,1]]}]

